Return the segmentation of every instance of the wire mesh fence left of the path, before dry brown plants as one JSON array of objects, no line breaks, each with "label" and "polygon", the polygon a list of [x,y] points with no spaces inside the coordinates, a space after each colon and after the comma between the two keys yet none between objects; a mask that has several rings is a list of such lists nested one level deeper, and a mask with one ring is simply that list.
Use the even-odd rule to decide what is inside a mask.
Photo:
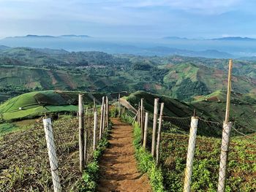
[{"label": "wire mesh fence left of the path, before dry brown plants", "polygon": [[[100,111],[97,112],[96,142],[99,141],[99,117]],[[92,110],[85,112],[84,119],[88,164],[94,151]],[[45,126],[48,131],[44,130],[41,118],[30,128],[1,137],[0,191],[74,191],[81,179],[78,118],[61,115],[53,120],[52,129],[49,127],[48,123]]]}]

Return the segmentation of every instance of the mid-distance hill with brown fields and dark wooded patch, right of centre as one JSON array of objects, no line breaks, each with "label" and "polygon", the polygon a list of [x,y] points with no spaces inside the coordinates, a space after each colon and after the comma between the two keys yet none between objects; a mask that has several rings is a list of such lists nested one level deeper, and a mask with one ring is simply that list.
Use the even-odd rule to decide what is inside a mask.
[{"label": "mid-distance hill with brown fields and dark wooded patch, right of centre", "polygon": [[[207,95],[227,86],[227,73],[195,64],[177,64],[171,66],[164,82],[178,99]],[[256,80],[249,77],[233,76],[233,91],[238,93],[256,93]]]}]

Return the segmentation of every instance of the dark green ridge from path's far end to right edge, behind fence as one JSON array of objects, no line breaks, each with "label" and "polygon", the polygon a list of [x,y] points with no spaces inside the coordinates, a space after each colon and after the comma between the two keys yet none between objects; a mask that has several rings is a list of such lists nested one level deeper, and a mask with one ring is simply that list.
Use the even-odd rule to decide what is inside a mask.
[{"label": "dark green ridge from path's far end to right edge, behind fence", "polygon": [[[141,98],[144,99],[146,110],[151,112],[154,111],[154,98],[159,98],[159,102],[165,103],[164,115],[169,117],[191,117],[196,110],[197,115],[206,120],[222,122],[225,118],[226,91],[216,91],[208,96],[197,97],[197,101],[191,104],[144,91],[132,93],[127,97],[127,101],[137,107]],[[256,99],[253,99],[252,94],[231,94],[230,121],[244,133],[256,131]]]}]

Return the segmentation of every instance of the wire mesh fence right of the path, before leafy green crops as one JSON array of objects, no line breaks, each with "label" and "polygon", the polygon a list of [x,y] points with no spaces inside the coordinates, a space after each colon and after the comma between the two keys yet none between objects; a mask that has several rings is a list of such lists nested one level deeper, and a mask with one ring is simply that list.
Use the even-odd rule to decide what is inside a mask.
[{"label": "wire mesh fence right of the path, before leafy green crops", "polygon": [[[141,114],[127,111],[141,122]],[[154,112],[152,107],[144,112],[146,150],[151,153]],[[256,191],[256,130],[195,119],[196,125],[192,117],[162,116],[159,166],[166,191]]]}]

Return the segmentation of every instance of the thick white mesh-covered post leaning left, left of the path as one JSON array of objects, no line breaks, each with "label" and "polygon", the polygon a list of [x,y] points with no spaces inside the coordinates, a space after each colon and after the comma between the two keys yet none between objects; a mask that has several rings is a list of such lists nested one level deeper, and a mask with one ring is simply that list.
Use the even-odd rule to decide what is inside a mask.
[{"label": "thick white mesh-covered post leaning left, left of the path", "polygon": [[58,158],[56,155],[56,147],[53,138],[53,127],[50,118],[42,120],[45,129],[45,139],[48,148],[48,156],[50,160],[50,171],[53,177],[53,190],[54,192],[61,191],[61,182],[59,179]]}]

